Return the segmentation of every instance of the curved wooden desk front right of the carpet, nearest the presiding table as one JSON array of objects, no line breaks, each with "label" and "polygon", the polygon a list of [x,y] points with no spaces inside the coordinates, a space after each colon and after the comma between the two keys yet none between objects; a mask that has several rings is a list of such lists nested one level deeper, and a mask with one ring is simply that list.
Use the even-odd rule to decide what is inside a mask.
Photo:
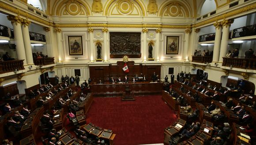
[{"label": "curved wooden desk front right of the carpet, nearest the presiding table", "polygon": [[175,111],[180,108],[181,102],[178,102],[166,91],[162,91],[162,100]]}]

